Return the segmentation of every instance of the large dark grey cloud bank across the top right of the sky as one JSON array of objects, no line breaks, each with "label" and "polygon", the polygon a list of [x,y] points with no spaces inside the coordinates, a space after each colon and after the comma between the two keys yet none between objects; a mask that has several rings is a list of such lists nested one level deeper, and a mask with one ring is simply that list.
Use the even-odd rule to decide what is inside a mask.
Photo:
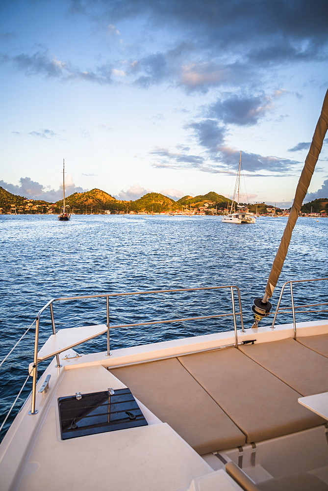
[{"label": "large dark grey cloud bank across the top right of the sky", "polygon": [[184,34],[207,54],[238,50],[257,63],[313,60],[325,54],[328,40],[322,0],[72,0],[73,9],[104,28],[131,19],[140,30],[165,33],[171,43],[175,38],[181,43]]}]

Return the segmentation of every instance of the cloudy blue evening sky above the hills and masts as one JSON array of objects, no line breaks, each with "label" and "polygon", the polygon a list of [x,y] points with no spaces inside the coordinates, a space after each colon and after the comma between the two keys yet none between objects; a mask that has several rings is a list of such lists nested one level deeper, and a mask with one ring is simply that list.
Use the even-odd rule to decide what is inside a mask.
[{"label": "cloudy blue evening sky above the hills and masts", "polygon": [[[289,207],[328,87],[327,0],[2,0],[0,186]],[[304,202],[328,197],[327,138]]]}]

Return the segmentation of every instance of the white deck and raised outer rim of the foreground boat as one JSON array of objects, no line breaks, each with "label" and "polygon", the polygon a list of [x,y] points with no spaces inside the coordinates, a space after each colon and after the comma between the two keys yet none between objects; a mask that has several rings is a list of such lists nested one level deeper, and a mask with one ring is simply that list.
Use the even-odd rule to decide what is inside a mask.
[{"label": "white deck and raised outer rim of the foreground boat", "polygon": [[[106,331],[105,326],[99,328],[101,332]],[[300,323],[298,333],[302,336],[328,333],[328,324],[319,321]],[[76,332],[71,334],[72,337],[65,334],[65,342],[71,339],[77,344],[76,340],[81,337],[77,338]],[[239,340],[257,339],[257,342],[265,343],[291,338],[293,328],[292,325],[277,326],[275,330],[270,327],[260,327],[247,329],[245,333],[239,332],[238,336]],[[88,335],[85,337],[90,339]],[[215,346],[224,346],[233,341],[232,332],[217,333],[117,350],[110,357],[102,352],[63,360],[65,354],[74,354],[73,350],[70,350],[61,356],[63,365],[61,368],[56,368],[56,360],[52,360],[38,382],[38,386],[41,386],[46,376],[51,375],[48,392],[36,394],[38,414],[28,415],[29,399],[1,443],[1,491],[33,489],[57,491],[63,488],[75,491],[89,491],[93,488],[97,491],[240,490],[222,470],[224,466],[217,457],[211,454],[215,464],[209,464],[211,459],[208,459],[208,456],[204,456],[203,459],[165,421],[160,421],[140,402],[138,403],[148,421],[148,426],[68,440],[61,439],[58,413],[58,397],[71,396],[76,392],[88,393],[107,390],[109,387],[114,389],[124,387],[124,384],[106,367],[113,368],[129,363],[213,349]],[[45,345],[40,350],[40,356],[47,357],[51,350],[61,351],[59,348],[63,345],[60,345],[58,340],[56,343],[48,343],[48,347]],[[192,424],[197,423],[192,422]],[[311,462],[309,472],[313,469],[313,473],[319,477],[323,476],[323,480],[328,482],[328,448],[326,448],[323,426],[301,433],[310,435],[306,437],[307,439],[304,436],[304,441],[308,442],[307,446],[311,449],[308,459],[308,462]],[[318,445],[317,437],[320,439]],[[284,451],[287,449],[288,457],[293,458],[294,453],[298,455],[295,449],[300,447],[299,440],[295,439],[294,448],[290,441],[294,441],[293,435],[288,438],[275,438],[272,442],[263,441],[258,445],[257,455],[262,452],[264,456],[262,459],[270,467],[269,471],[272,475],[275,472],[278,474],[279,469],[282,468],[282,465],[277,465],[275,460],[276,453],[282,455],[281,448],[284,448]],[[320,450],[318,459],[314,455],[313,448]],[[302,453],[306,455],[305,451]],[[251,454],[252,447],[248,444],[245,446],[245,460],[250,460]],[[237,449],[231,450],[226,455],[230,455],[229,458],[238,462]],[[285,457],[283,461],[286,462]],[[317,469],[316,462],[318,462]],[[300,465],[304,467],[303,461],[301,464],[295,462],[293,465],[294,471],[297,471]]]}]

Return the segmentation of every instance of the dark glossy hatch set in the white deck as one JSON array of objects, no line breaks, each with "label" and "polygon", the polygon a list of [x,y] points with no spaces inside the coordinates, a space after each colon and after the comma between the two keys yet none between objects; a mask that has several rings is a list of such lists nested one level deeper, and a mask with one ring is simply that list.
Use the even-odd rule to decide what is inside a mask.
[{"label": "dark glossy hatch set in the white deck", "polygon": [[63,440],[148,424],[128,388],[59,397],[58,407]]}]

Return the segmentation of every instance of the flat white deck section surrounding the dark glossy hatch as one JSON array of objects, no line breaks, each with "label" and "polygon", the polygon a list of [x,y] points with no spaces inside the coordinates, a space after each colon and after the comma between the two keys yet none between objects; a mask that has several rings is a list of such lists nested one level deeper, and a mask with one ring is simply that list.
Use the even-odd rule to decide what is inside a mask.
[{"label": "flat white deck section surrounding the dark glossy hatch", "polygon": [[[50,398],[48,393],[43,396],[47,405],[40,413],[26,416],[29,408],[23,409],[23,416],[36,424],[36,432],[29,440],[28,455],[23,457],[22,470],[11,489],[179,490],[188,489],[192,479],[199,481],[213,472],[172,428],[141,403],[148,426],[62,440],[58,397],[124,385],[101,366],[64,371],[59,382],[56,388],[52,387]],[[19,432],[12,437],[19,438]],[[221,489],[238,489],[225,473],[217,473],[213,479],[225,483]],[[5,478],[2,486],[1,489],[9,488]]]}]

